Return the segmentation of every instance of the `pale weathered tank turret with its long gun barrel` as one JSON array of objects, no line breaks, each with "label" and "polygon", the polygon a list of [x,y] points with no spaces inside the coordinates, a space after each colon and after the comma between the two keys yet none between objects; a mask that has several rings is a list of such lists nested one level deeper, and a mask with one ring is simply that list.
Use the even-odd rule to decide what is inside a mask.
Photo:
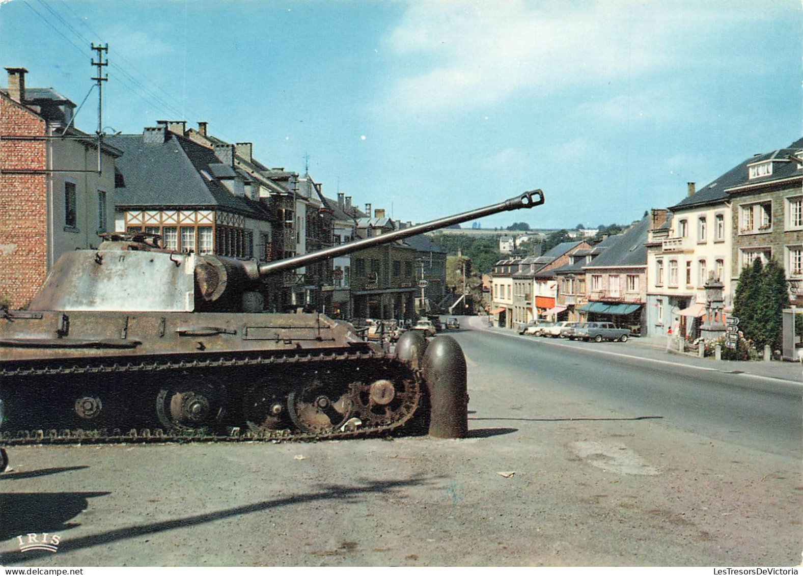
[{"label": "pale weathered tank turret with its long gun barrel", "polygon": [[382,235],[293,258],[257,263],[218,255],[182,254],[159,246],[158,235],[107,233],[96,251],[63,255],[30,310],[137,312],[259,312],[257,290],[267,276],[392,243],[506,210],[544,203],[541,190]]}]

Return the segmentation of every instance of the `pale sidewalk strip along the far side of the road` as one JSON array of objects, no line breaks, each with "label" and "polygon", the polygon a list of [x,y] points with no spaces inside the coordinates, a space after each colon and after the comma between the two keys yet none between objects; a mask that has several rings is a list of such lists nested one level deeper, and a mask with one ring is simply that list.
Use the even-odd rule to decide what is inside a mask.
[{"label": "pale sidewalk strip along the far side of the road", "polygon": [[[649,358],[663,362],[673,362],[684,366],[695,366],[711,370],[720,370],[732,374],[750,374],[760,378],[777,378],[803,387],[803,364],[800,362],[746,362],[736,360],[715,360],[712,357],[697,357],[691,354],[671,353],[666,351],[666,337],[631,337],[626,343],[621,342],[573,342],[552,338],[523,336],[513,329],[489,327],[486,317],[470,317],[472,329],[484,329],[489,332],[524,338],[536,339],[545,343],[561,345],[577,345],[577,347],[595,347],[606,352],[615,352],[631,357]],[[592,348],[593,349],[593,348]]]}]

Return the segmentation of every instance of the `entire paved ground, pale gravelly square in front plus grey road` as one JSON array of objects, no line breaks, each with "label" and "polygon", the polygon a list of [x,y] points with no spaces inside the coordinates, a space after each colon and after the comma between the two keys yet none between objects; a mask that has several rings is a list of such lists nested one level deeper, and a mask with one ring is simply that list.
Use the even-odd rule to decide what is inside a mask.
[{"label": "entire paved ground, pale gravelly square in front plus grey road", "polygon": [[[452,335],[469,438],[16,448],[0,475],[0,564],[801,561],[789,382],[628,358],[630,342]],[[19,549],[43,532],[57,552]]]}]

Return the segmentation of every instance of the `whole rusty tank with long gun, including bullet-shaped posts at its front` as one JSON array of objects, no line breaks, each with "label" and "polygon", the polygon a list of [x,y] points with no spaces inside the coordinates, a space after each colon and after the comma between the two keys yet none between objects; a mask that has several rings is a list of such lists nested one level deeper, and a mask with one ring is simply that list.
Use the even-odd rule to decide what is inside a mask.
[{"label": "whole rusty tank with long gun, including bullet-shaped posts at its front", "polygon": [[[111,233],[63,255],[26,310],[0,309],[0,441],[326,438],[418,421],[465,433],[457,342],[365,341],[320,313],[263,313],[259,283],[375,245],[544,202],[533,190],[404,230],[257,263]],[[437,415],[437,417],[436,417]]]}]

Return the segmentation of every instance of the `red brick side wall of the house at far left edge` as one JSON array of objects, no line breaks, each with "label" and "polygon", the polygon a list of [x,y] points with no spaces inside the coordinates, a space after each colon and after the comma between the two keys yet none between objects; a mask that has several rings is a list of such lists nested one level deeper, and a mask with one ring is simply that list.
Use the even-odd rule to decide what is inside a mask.
[{"label": "red brick side wall of the house at far left edge", "polygon": [[[3,137],[44,136],[43,119],[0,94],[0,169],[43,170],[44,141]],[[0,174],[0,304],[26,306],[47,273],[47,176]]]}]

